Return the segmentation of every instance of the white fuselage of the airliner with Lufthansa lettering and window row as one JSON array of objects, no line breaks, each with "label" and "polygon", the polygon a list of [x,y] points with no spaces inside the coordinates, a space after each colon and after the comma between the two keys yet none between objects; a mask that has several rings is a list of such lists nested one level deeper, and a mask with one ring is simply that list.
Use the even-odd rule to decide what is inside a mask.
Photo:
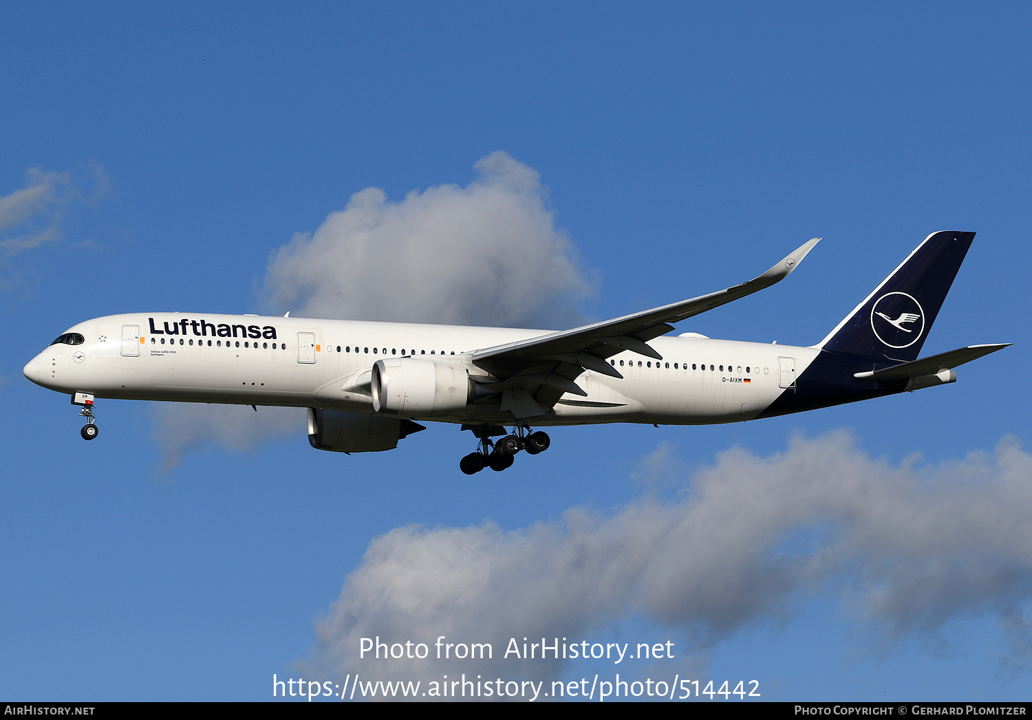
[{"label": "white fuselage of the airliner with Lufthansa lettering and window row", "polygon": [[[470,368],[478,349],[547,330],[200,314],[132,314],[70,328],[84,340],[55,343],[25,367],[33,382],[98,398],[323,407],[372,414],[368,372],[384,358],[416,356]],[[622,379],[586,370],[536,425],[607,422],[709,424],[749,420],[820,352],[759,342],[657,337],[652,360],[610,358]],[[703,369],[705,368],[705,369]],[[363,384],[364,380],[364,384]],[[417,418],[419,419],[419,418]],[[444,422],[511,424],[498,404],[470,404]]]}]

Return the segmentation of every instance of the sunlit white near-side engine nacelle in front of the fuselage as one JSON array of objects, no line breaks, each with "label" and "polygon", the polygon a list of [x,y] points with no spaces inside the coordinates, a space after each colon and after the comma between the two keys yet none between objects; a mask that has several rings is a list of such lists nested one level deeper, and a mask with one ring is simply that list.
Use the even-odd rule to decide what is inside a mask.
[{"label": "sunlit white near-side engine nacelle in front of the fuselage", "polygon": [[470,371],[422,358],[390,358],[373,365],[373,410],[425,418],[465,407],[477,396]]}]

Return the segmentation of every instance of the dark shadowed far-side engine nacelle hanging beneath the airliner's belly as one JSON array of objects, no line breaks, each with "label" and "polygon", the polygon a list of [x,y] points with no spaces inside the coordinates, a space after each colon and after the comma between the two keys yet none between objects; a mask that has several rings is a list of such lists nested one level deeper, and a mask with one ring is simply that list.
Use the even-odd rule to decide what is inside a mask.
[{"label": "dark shadowed far-side engine nacelle hanging beneath the airliner's belly", "polygon": [[426,428],[400,418],[342,413],[309,407],[309,443],[334,453],[378,453],[393,450],[397,441]]}]

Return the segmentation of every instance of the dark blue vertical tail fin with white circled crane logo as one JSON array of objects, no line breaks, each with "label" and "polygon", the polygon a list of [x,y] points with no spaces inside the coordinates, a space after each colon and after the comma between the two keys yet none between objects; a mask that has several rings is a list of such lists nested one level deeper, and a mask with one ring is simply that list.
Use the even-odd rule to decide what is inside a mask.
[{"label": "dark blue vertical tail fin with white circled crane logo", "polygon": [[973,239],[973,232],[933,232],[816,347],[915,360]]}]

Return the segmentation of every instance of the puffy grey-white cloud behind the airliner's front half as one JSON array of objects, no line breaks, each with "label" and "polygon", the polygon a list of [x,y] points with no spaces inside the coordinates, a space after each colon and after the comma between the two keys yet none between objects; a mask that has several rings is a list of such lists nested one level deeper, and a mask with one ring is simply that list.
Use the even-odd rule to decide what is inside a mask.
[{"label": "puffy grey-white cloud behind the airliner's front half", "polygon": [[[396,322],[572,327],[589,291],[555,228],[538,173],[503,152],[481,158],[465,187],[413,190],[389,201],[352,195],[314,233],[272,253],[261,289],[275,314]],[[299,432],[276,413],[235,422],[232,408],[158,411],[165,465],[184,452],[230,450]]]}]

